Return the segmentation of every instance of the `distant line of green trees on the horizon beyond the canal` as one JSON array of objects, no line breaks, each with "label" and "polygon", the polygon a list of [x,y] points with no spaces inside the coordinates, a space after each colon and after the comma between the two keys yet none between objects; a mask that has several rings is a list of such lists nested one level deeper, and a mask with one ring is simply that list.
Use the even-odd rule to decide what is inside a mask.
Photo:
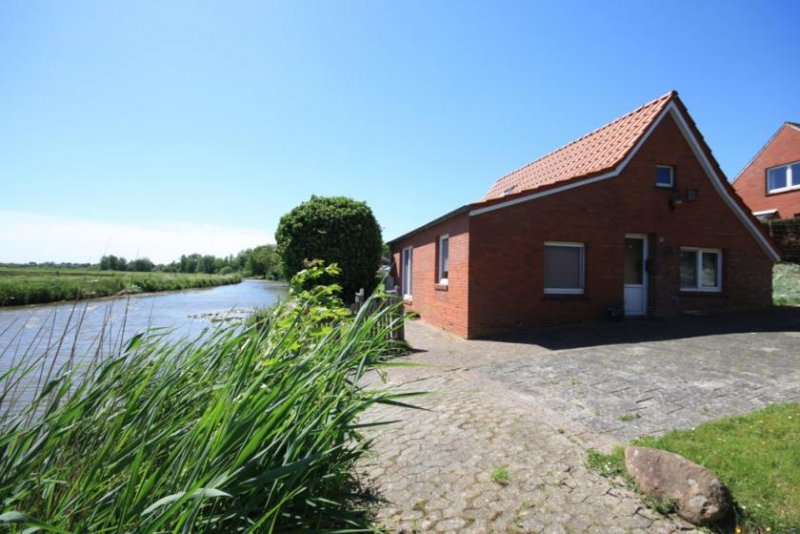
[{"label": "distant line of green trees on the horizon beyond the canal", "polygon": [[237,254],[217,257],[211,254],[183,254],[170,263],[155,264],[149,258],[126,260],[109,254],[96,265],[101,271],[161,271],[168,273],[230,274],[242,273],[277,280],[281,278],[281,259],[275,245],[248,248]]}]

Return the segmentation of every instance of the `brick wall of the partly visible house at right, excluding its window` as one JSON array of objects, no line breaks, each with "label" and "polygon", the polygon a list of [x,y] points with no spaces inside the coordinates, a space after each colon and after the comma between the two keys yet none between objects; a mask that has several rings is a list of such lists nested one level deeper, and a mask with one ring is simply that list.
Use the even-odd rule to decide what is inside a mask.
[{"label": "brick wall of the partly visible house at right, excluding its window", "polygon": [[753,212],[777,210],[771,218],[800,216],[800,189],[767,192],[767,169],[800,161],[800,126],[786,123],[734,180],[733,187]]}]

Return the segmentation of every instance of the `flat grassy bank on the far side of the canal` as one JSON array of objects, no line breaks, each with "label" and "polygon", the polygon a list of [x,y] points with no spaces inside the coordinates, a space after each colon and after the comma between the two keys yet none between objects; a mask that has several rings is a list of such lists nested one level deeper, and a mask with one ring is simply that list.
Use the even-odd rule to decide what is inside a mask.
[{"label": "flat grassy bank on the far side of the canal", "polygon": [[0,267],[0,306],[174,291],[241,282],[239,274],[180,274]]}]

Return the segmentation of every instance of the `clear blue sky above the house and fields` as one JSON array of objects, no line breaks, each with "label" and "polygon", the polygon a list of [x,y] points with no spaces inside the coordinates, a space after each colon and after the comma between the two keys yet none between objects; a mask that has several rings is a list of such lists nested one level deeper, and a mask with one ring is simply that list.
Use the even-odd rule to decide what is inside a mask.
[{"label": "clear blue sky above the house and fields", "polygon": [[0,3],[0,261],[396,237],[679,91],[733,179],[800,121],[800,2]]}]

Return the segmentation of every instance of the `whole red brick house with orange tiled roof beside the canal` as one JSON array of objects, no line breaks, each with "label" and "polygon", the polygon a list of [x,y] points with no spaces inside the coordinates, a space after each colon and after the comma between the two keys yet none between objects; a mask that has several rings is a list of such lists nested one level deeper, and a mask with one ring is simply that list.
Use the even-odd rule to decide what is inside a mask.
[{"label": "whole red brick house with orange tiled roof beside the canal", "polygon": [[768,306],[778,260],[675,92],[390,246],[408,309],[464,337]]}]

